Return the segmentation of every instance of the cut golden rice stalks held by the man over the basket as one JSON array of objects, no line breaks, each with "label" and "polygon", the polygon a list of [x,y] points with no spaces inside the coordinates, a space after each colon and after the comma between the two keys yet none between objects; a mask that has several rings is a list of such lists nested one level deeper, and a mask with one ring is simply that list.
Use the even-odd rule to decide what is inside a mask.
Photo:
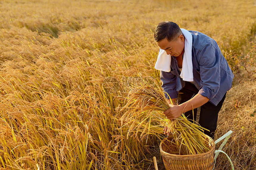
[{"label": "cut golden rice stalks held by the man over the basket", "polygon": [[[155,88],[152,85],[143,85],[136,87],[129,93],[125,108],[129,108],[126,112],[127,119],[141,121],[143,124],[146,124],[146,121],[141,118],[140,113],[154,111],[163,112],[169,109],[169,104],[159,86]],[[150,115],[157,115],[159,119],[163,120],[159,120],[162,122],[159,126],[168,126],[170,133],[168,138],[165,139],[165,143],[172,145],[168,153],[176,155],[195,155],[209,151],[209,146],[206,145],[206,140],[208,140],[209,137],[203,133],[203,131],[207,129],[191,123],[184,114],[171,120],[167,119],[161,112]],[[146,117],[146,119],[148,119],[148,117]],[[137,127],[140,128],[142,125]],[[139,131],[139,129],[137,129],[137,131]],[[159,134],[163,133],[160,128],[155,128],[155,126],[152,126],[152,129],[148,126],[148,131],[150,134],[158,133],[159,138],[161,136]]]}]

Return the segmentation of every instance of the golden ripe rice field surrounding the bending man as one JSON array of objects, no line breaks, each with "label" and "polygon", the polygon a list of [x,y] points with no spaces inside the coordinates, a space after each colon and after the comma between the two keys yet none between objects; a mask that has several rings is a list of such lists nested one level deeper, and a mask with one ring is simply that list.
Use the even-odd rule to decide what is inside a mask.
[{"label": "golden ripe rice field surrounding the bending man", "polygon": [[161,21],[220,46],[235,78],[215,139],[232,130],[223,150],[255,170],[255,0],[0,0],[0,170],[153,170],[153,155],[164,169],[161,112],[124,108],[132,88],[161,85]]}]

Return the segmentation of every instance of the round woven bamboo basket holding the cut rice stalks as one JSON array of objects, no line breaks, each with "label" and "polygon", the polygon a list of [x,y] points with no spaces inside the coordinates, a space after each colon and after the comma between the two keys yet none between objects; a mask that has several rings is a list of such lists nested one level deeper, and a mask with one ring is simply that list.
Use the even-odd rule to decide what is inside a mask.
[{"label": "round woven bamboo basket holding the cut rice stalks", "polygon": [[[171,139],[171,138],[167,138]],[[212,138],[205,140],[209,146],[209,151],[198,155],[175,155],[167,153],[172,146],[168,145],[167,140],[160,143],[160,153],[166,170],[212,170],[215,144]]]}]

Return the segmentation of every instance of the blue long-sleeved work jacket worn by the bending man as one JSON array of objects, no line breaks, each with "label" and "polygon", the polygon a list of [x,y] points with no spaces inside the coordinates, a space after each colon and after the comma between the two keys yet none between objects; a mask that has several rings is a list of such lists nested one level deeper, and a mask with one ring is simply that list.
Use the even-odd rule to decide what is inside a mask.
[{"label": "blue long-sleeved work jacket worn by the bending man", "polygon": [[[217,105],[231,88],[234,75],[216,41],[203,33],[189,32],[192,34],[193,84],[199,90],[198,94]],[[160,71],[162,89],[171,99],[177,98],[178,91],[185,86],[180,73],[174,56],[171,56],[171,71]],[[169,99],[166,93],[165,97]]]}]

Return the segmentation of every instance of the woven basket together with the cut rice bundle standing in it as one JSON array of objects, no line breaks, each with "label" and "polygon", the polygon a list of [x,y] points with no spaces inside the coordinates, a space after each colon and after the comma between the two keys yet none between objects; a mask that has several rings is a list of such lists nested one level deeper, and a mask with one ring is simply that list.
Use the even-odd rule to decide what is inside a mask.
[{"label": "woven basket together with the cut rice bundle standing in it", "polygon": [[[159,87],[155,88],[152,85],[144,85],[133,89],[129,93],[125,107],[129,107],[129,116],[136,119],[138,116],[135,115],[138,115],[139,111],[141,113],[146,111],[163,112],[169,108],[169,104],[163,95],[162,89]],[[212,168],[215,145],[213,139],[203,133],[203,130],[207,129],[191,123],[184,114],[172,120],[166,119],[161,112],[158,114],[164,119],[166,126],[168,126],[168,131],[170,131],[168,137],[160,144],[160,151],[166,169],[169,169],[168,167],[174,168],[176,166],[176,169],[179,169],[178,167],[181,167],[181,169],[193,169],[193,166],[195,166],[196,169]],[[162,126],[165,126],[165,124],[162,124]],[[155,129],[152,129],[152,131],[153,134],[156,132]],[[163,133],[163,131],[159,131],[158,133]],[[200,155],[204,155],[205,157],[206,153],[207,160],[201,163],[203,165],[199,165],[199,162],[205,159],[200,158]],[[179,158],[176,158],[177,155],[179,155]],[[188,157],[186,157],[186,155],[188,155]],[[196,156],[192,156],[191,158],[191,155]],[[180,156],[183,157],[180,158]],[[177,160],[182,160],[184,158],[185,162],[179,161],[177,163]],[[175,159],[177,160],[175,161]],[[175,166],[173,165],[174,163],[176,163]]]}]

